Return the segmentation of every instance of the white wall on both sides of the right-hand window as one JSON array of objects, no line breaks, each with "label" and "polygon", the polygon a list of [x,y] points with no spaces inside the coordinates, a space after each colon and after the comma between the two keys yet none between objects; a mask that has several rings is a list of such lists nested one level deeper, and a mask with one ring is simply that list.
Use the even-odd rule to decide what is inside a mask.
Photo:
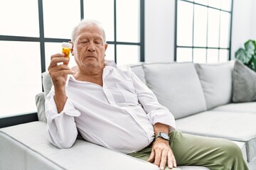
[{"label": "white wall on both sides of the right-hand window", "polygon": [[[256,40],[256,1],[233,0],[231,57],[248,39]],[[145,61],[174,61],[175,0],[145,1]]]}]

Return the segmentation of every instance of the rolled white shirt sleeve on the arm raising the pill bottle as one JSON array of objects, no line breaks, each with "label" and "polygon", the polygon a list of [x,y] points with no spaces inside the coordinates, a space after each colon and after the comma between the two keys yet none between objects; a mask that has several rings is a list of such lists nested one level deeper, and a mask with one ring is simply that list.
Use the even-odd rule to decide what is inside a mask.
[{"label": "rolled white shirt sleeve on the arm raising the pill bottle", "polygon": [[54,100],[54,89],[51,89],[46,96],[46,137],[55,147],[62,149],[73,146],[78,136],[75,117],[79,115],[80,112],[74,108],[69,98],[63,111],[58,113]]}]

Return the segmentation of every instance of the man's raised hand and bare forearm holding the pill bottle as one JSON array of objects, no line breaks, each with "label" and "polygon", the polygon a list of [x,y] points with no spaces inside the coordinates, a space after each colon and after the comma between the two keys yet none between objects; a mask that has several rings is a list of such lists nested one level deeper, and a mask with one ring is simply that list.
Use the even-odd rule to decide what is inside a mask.
[{"label": "man's raised hand and bare forearm holding the pill bottle", "polygon": [[65,94],[65,83],[68,78],[68,74],[74,74],[74,72],[66,64],[58,64],[59,62],[68,63],[69,59],[64,57],[64,54],[55,54],[50,57],[50,66],[48,67],[48,72],[51,79],[53,80],[53,85],[55,89],[55,104],[58,113],[63,111],[65,102],[67,101],[67,96]]}]

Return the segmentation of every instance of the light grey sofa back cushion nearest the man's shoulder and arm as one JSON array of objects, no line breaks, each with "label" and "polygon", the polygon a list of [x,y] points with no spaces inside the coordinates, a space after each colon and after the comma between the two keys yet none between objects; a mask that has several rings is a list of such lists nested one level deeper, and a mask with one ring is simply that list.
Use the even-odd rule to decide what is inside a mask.
[{"label": "light grey sofa back cushion nearest the man's shoulder and arm", "polygon": [[146,85],[174,118],[206,111],[203,89],[193,63],[152,63],[143,67]]}]

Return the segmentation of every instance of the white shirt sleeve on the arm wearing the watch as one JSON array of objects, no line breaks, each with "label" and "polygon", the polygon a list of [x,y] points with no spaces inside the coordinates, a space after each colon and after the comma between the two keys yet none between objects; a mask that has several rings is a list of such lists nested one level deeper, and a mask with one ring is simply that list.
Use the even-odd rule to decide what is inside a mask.
[{"label": "white shirt sleeve on the arm wearing the watch", "polygon": [[174,130],[176,128],[174,115],[169,109],[158,102],[153,91],[151,91],[151,89],[149,89],[149,87],[134,74],[134,72],[132,72],[132,81],[139,98],[139,103],[142,104],[150,123],[152,125],[156,123],[169,125],[169,131],[171,132]]}]

